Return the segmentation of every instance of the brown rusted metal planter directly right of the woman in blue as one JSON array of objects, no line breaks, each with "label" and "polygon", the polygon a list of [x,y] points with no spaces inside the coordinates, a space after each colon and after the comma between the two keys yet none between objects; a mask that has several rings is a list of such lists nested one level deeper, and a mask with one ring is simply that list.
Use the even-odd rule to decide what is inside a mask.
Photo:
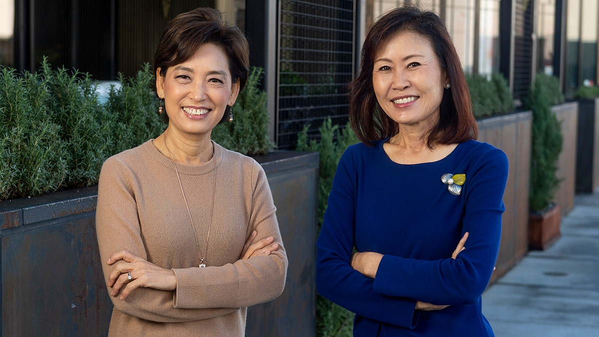
[{"label": "brown rusted metal planter directly right of the woman in blue", "polygon": [[510,163],[503,202],[501,246],[491,282],[503,276],[528,251],[528,185],[530,182],[530,111],[481,119],[479,141],[503,150]]}]

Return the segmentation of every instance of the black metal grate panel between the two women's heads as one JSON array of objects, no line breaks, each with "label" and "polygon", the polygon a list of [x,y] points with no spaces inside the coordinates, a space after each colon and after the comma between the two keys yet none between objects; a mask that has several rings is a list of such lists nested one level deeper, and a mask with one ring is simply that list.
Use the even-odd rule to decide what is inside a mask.
[{"label": "black metal grate panel between the two women's heads", "polygon": [[282,0],[279,8],[277,145],[295,148],[311,124],[347,122],[347,83],[352,80],[355,7],[350,0]]}]

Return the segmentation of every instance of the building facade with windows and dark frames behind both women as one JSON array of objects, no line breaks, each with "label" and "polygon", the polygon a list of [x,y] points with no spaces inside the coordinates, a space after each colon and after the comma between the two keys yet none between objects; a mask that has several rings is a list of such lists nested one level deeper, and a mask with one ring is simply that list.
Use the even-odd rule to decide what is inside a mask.
[{"label": "building facade with windows and dark frames behind both women", "polygon": [[599,79],[597,0],[0,0],[0,64],[35,71],[47,56],[98,80],[132,76],[152,62],[168,20],[217,8],[247,32],[250,63],[266,70],[272,137],[292,149],[305,124],[316,137],[329,116],[346,123],[365,31],[403,4],[437,12],[465,72],[503,74],[516,106],[539,71],[567,98]]}]

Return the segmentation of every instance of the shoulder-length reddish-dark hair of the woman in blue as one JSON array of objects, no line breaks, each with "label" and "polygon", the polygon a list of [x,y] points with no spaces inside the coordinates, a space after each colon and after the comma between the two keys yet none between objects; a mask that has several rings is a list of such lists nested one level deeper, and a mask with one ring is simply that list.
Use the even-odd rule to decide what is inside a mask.
[{"label": "shoulder-length reddish-dark hair of the woman in blue", "polygon": [[358,139],[370,144],[399,132],[397,123],[385,114],[376,99],[373,68],[374,56],[380,46],[401,31],[415,32],[431,41],[451,85],[450,89],[443,90],[439,121],[428,134],[428,147],[476,139],[478,127],[472,113],[470,92],[449,32],[437,14],[411,6],[395,8],[381,16],[365,38],[358,76],[349,84],[349,118]]}]

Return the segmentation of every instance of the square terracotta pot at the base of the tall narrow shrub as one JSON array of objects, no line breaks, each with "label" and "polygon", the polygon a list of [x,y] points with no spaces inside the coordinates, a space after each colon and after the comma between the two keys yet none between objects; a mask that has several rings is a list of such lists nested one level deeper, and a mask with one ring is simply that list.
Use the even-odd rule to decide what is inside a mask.
[{"label": "square terracotta pot at the base of the tall narrow shrub", "polygon": [[544,250],[559,239],[561,208],[554,204],[543,213],[530,213],[528,218],[528,249]]}]

